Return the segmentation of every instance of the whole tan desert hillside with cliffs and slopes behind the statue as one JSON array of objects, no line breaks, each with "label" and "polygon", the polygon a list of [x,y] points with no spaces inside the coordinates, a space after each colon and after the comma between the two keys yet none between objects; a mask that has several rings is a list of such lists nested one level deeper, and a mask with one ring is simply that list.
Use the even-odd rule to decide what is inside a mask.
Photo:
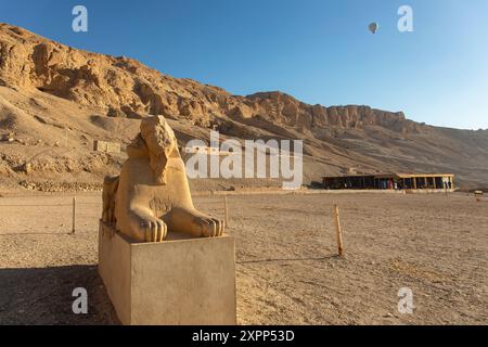
[{"label": "whole tan desert hillside with cliffs and slopes behind the statue", "polygon": [[[210,128],[236,139],[303,139],[304,183],[349,168],[454,172],[466,187],[488,182],[487,130],[431,127],[401,112],[369,106],[309,105],[281,92],[232,95],[163,75],[131,59],[76,50],[0,24],[3,185],[100,182],[119,169],[125,156],[93,152],[93,140],[127,144],[146,114],[170,119],[180,142],[208,140]],[[203,180],[192,185],[274,183]]]}]

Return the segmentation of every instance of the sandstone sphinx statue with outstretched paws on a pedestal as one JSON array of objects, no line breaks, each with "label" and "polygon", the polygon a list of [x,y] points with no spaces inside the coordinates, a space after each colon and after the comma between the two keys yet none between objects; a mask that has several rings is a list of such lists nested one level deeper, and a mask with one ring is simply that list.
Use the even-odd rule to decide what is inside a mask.
[{"label": "sandstone sphinx statue with outstretched paws on a pedestal", "polygon": [[193,206],[177,139],[163,116],[141,121],[120,176],[103,184],[102,221],[136,242],[163,242],[168,230],[194,237],[221,236],[222,220]]}]

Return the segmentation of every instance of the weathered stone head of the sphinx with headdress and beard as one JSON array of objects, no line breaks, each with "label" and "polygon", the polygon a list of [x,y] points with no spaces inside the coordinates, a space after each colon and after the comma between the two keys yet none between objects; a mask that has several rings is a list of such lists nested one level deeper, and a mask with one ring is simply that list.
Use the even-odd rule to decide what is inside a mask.
[{"label": "weathered stone head of the sphinx with headdress and beard", "polygon": [[150,166],[158,184],[166,184],[166,166],[178,155],[175,132],[163,116],[147,117],[141,121],[141,132],[128,147],[129,157],[149,156]]}]

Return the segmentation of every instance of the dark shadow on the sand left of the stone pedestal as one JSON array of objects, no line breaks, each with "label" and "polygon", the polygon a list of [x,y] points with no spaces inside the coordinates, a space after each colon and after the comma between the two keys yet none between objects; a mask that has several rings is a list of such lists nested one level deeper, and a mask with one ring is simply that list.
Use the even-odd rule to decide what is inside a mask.
[{"label": "dark shadow on the sand left of the stone pedestal", "polygon": [[[88,313],[75,314],[73,291],[88,292]],[[97,266],[0,269],[0,325],[119,324]]]}]

